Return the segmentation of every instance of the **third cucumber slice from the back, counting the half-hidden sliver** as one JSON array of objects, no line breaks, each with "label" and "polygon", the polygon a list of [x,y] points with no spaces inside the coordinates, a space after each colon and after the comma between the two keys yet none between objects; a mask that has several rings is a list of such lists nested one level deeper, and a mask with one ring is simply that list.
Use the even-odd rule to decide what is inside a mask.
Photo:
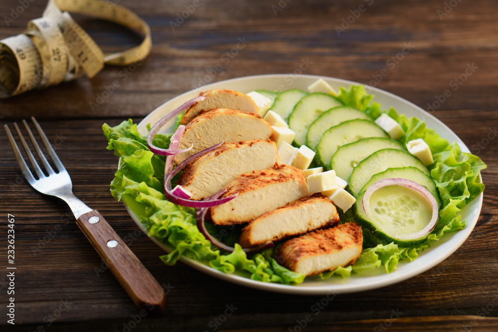
[{"label": "third cucumber slice from the back, counting the half-hidden sliver", "polygon": [[289,127],[296,133],[294,141],[298,146],[306,144],[308,128],[324,111],[343,104],[331,95],[315,92],[303,97],[289,116]]}]

